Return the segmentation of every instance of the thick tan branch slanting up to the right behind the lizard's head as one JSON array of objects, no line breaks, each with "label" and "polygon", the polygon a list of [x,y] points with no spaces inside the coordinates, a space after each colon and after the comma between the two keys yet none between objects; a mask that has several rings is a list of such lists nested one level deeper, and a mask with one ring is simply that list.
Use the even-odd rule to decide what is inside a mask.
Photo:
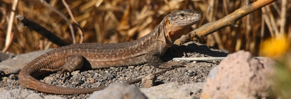
[{"label": "thick tan branch slanting up to the right behind the lizard's head", "polygon": [[[223,17],[222,19],[219,19],[217,21],[211,22],[204,24],[202,27],[197,28],[190,32],[190,36],[187,37],[188,39],[194,37],[195,35],[198,36],[207,36],[209,34],[212,34],[215,31],[218,31],[224,27],[231,26],[231,25],[236,25],[236,22],[241,19],[242,17],[254,12],[255,10],[262,8],[263,6],[266,6],[267,4],[270,4],[274,1],[277,0],[257,0],[255,2],[250,2],[248,5],[242,6],[240,9],[237,9],[233,13]],[[180,39],[178,39],[180,40]],[[180,40],[180,41],[190,41],[190,40]],[[181,44],[177,45],[182,45],[186,42],[180,42]]]}]

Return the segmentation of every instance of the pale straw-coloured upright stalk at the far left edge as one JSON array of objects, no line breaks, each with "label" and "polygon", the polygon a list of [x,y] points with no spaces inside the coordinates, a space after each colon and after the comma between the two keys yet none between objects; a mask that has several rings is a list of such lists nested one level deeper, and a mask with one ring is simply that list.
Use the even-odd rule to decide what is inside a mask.
[{"label": "pale straw-coloured upright stalk at the far left edge", "polygon": [[14,0],[12,3],[12,8],[11,8],[11,12],[10,12],[9,21],[8,21],[8,28],[7,28],[7,32],[6,32],[5,47],[2,50],[2,52],[5,52],[9,48],[9,45],[12,42],[11,34],[12,34],[12,27],[13,27],[15,10],[16,10],[17,4],[18,4],[18,0]]}]

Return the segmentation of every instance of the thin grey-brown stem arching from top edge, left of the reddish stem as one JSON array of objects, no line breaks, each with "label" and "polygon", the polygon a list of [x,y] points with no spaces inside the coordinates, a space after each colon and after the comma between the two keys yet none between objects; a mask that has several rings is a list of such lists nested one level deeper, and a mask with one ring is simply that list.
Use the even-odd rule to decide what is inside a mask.
[{"label": "thin grey-brown stem arching from top edge, left of the reddish stem", "polygon": [[65,21],[67,21],[67,23],[69,24],[70,31],[71,31],[71,35],[72,35],[72,39],[73,39],[73,44],[76,44],[75,33],[74,33],[74,30],[73,30],[73,25],[71,24],[70,20],[64,14],[62,14],[61,12],[59,12],[57,9],[55,9],[52,6],[50,6],[45,0],[40,0],[40,2],[43,3],[45,6],[47,6],[48,8],[52,9],[55,13],[57,13]]}]

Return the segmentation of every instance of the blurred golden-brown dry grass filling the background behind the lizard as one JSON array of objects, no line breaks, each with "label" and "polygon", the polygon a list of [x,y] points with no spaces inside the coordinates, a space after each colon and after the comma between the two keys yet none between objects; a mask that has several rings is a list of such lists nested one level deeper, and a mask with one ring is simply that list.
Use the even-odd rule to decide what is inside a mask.
[{"label": "blurred golden-brown dry grass filling the background behind the lizard", "polygon": [[[46,0],[51,6],[70,18],[61,0]],[[173,11],[193,9],[203,12],[203,20],[192,26],[218,20],[245,4],[246,0],[65,0],[84,29],[83,43],[118,43],[138,39],[157,26],[163,17]],[[34,50],[57,48],[29,28],[21,27],[14,18],[12,35],[6,37],[13,0],[0,0],[0,49],[7,38],[12,38],[6,52],[26,53]],[[19,0],[15,15],[21,14],[52,31],[72,44],[66,21],[41,3],[40,0]],[[283,22],[283,23],[282,23]],[[237,22],[238,27],[226,27],[207,36],[207,45],[234,52],[249,50],[255,56],[260,44],[267,38],[286,35],[291,40],[291,1],[278,0]],[[71,23],[73,23],[71,21]],[[191,30],[189,29],[189,33]],[[76,41],[80,33],[74,26]]]}]

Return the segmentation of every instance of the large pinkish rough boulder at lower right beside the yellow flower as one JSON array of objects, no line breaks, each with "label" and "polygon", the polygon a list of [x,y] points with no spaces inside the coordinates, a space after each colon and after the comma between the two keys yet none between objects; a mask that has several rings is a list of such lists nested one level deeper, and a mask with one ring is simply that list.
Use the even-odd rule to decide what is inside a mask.
[{"label": "large pinkish rough boulder at lower right beside the yellow flower", "polygon": [[274,61],[253,58],[250,52],[229,54],[213,68],[201,99],[268,99]]}]

